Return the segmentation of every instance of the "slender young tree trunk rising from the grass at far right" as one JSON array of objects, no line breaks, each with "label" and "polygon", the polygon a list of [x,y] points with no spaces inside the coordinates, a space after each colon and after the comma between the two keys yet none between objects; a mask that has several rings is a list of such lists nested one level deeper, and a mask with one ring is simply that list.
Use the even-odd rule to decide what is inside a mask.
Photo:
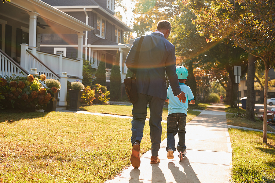
[{"label": "slender young tree trunk rising from the grass at far right", "polygon": [[[266,65],[266,63],[265,63]],[[266,66],[266,70],[265,70],[265,91],[264,91],[264,121],[263,121],[263,142],[267,143],[267,81],[268,81],[268,72],[269,72],[269,68]]]}]

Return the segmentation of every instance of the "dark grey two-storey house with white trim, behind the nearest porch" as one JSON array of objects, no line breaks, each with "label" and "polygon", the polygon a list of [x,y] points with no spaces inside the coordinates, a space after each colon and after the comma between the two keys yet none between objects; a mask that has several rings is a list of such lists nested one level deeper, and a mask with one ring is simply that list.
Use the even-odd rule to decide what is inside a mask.
[{"label": "dark grey two-storey house with white trim, behind the nearest porch", "polygon": [[[110,82],[111,68],[119,51],[121,79],[125,78],[127,68],[125,59],[130,47],[123,44],[123,32],[132,31],[114,12],[114,0],[42,0],[70,16],[94,27],[86,31],[83,40],[83,58],[91,61],[97,69],[99,62],[106,67],[106,85]],[[56,54],[62,52],[70,58],[77,55],[77,36],[72,34],[42,34],[40,49]],[[82,78],[80,78],[82,79]]]}]

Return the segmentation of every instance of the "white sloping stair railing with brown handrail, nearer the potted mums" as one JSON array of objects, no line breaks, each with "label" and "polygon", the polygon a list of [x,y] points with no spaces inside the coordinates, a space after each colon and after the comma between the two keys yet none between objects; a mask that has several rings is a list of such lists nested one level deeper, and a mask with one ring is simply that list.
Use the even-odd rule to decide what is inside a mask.
[{"label": "white sloping stair railing with brown handrail, nearer the potted mums", "polygon": [[39,75],[45,74],[47,79],[56,79],[60,80],[60,77],[55,74],[53,70],[51,70],[48,66],[46,66],[44,63],[42,63],[41,60],[39,60],[36,56],[34,56],[30,51],[27,50],[27,68],[37,68],[37,73]]}]

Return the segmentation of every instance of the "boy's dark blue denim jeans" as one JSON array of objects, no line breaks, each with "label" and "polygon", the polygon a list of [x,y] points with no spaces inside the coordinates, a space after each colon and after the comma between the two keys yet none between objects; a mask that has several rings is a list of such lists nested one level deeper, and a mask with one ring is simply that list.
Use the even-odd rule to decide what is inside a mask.
[{"label": "boy's dark blue denim jeans", "polygon": [[175,148],[175,135],[178,133],[178,152],[183,152],[186,149],[185,146],[185,125],[186,125],[186,114],[185,113],[172,113],[168,115],[167,119],[167,147],[176,151]]}]

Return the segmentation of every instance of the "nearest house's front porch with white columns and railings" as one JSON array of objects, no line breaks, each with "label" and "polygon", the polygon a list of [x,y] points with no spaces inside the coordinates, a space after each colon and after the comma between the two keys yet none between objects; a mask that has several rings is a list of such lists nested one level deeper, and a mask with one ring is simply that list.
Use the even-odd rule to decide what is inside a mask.
[{"label": "nearest house's front porch with white columns and railings", "polygon": [[[94,28],[40,0],[0,3],[0,74],[37,72],[58,79],[62,84],[59,105],[65,106],[66,80],[82,79],[83,36],[91,30]],[[41,34],[74,35],[78,57],[41,52]]]}]

